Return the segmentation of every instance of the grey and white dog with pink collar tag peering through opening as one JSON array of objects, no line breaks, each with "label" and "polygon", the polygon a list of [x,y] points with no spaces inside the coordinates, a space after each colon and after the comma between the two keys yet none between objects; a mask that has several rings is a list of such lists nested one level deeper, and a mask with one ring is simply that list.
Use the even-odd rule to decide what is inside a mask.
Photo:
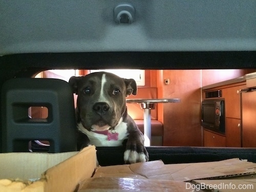
[{"label": "grey and white dog with pink collar tag peering through opening", "polygon": [[72,76],[69,84],[77,94],[78,147],[125,146],[124,162],[148,161],[144,136],[127,113],[126,97],[137,94],[134,79],[107,72]]}]

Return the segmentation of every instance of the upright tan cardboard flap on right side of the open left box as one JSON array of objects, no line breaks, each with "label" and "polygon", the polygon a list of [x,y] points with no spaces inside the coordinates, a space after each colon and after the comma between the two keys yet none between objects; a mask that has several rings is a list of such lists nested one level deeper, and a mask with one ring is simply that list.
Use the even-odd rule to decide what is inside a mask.
[{"label": "upright tan cardboard flap on right side of the open left box", "polygon": [[96,166],[95,146],[85,147],[76,156],[68,158],[45,172],[46,191],[75,191],[79,183],[92,177]]}]

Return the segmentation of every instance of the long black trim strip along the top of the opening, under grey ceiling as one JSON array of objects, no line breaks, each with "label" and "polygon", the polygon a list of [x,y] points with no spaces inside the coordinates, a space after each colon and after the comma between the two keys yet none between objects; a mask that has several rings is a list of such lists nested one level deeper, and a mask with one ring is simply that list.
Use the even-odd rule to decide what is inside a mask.
[{"label": "long black trim strip along the top of the opening, under grey ceiling", "polygon": [[253,69],[256,51],[28,53],[0,57],[1,69]]}]

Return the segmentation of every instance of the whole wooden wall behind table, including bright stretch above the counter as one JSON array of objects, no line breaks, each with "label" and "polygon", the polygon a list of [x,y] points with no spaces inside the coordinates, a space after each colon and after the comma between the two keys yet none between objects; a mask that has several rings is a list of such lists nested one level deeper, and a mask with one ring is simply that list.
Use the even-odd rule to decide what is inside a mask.
[{"label": "whole wooden wall behind table, including bright stretch above the counter", "polygon": [[[241,77],[256,70],[158,70],[158,98],[180,98],[180,103],[158,104],[164,124],[163,145],[202,146],[201,87]],[[170,79],[168,85],[164,79]]]}]

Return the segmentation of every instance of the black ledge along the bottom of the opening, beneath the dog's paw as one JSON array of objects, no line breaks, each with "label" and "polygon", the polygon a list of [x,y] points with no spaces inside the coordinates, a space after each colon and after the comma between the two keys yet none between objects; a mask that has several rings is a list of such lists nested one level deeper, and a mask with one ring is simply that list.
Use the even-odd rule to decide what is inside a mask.
[{"label": "black ledge along the bottom of the opening, beneath the dog's paw", "polygon": [[[101,166],[124,163],[125,147],[123,146],[96,147],[96,150]],[[210,162],[231,158],[247,159],[256,163],[256,148],[150,146],[146,147],[146,150],[150,161],[162,160],[164,164]]]}]

